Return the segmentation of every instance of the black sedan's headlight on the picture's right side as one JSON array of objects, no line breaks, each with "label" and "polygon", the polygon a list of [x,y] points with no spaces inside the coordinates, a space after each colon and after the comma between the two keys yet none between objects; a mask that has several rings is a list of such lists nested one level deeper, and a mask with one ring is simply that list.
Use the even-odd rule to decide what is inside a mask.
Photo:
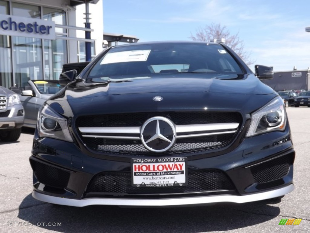
[{"label": "black sedan's headlight on the picture's right side", "polygon": [[276,97],[251,114],[251,125],[246,137],[285,129],[286,112],[281,97]]}]

